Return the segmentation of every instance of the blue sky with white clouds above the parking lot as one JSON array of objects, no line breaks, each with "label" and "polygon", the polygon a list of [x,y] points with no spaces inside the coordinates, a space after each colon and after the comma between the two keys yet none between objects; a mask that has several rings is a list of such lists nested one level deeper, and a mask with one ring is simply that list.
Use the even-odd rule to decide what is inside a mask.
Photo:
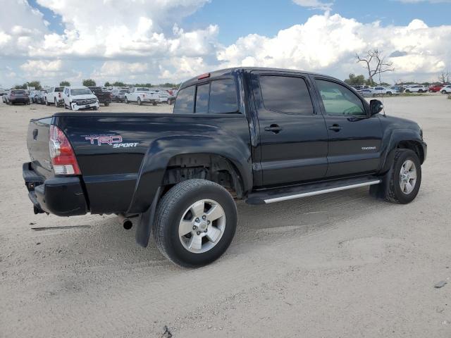
[{"label": "blue sky with white clouds above the parking lot", "polygon": [[[345,79],[356,54],[393,63],[381,80],[451,71],[451,0],[0,0],[0,87],[40,80],[181,82],[261,66]],[[377,79],[378,80],[378,79]]]}]

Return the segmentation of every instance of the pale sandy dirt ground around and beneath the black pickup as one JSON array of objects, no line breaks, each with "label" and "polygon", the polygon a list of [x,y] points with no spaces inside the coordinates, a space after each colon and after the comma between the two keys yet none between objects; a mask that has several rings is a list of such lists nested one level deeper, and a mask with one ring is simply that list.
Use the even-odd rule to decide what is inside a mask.
[{"label": "pale sandy dirt ground around and beneath the black pickup", "polygon": [[[230,249],[197,270],[137,246],[114,215],[34,215],[21,172],[27,123],[61,108],[0,104],[0,337],[451,337],[451,100],[384,101],[424,128],[412,204],[368,188],[238,202]],[[31,230],[67,225],[86,227]]]}]

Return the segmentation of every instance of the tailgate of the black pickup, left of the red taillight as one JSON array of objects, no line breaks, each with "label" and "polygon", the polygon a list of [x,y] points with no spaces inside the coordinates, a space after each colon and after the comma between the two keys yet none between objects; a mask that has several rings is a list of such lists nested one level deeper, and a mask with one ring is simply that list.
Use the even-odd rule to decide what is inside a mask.
[{"label": "tailgate of the black pickup, left of the red taillight", "polygon": [[49,129],[52,118],[30,120],[27,132],[27,148],[30,154],[31,166],[35,172],[43,177],[54,177],[51,170],[49,154]]}]

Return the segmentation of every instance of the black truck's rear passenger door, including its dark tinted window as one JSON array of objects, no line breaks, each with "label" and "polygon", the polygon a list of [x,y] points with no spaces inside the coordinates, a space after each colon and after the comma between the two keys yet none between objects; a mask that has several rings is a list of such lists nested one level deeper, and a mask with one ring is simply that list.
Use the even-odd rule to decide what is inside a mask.
[{"label": "black truck's rear passenger door, including its dark tinted window", "polygon": [[309,87],[302,75],[252,72],[264,186],[326,175],[328,134]]}]

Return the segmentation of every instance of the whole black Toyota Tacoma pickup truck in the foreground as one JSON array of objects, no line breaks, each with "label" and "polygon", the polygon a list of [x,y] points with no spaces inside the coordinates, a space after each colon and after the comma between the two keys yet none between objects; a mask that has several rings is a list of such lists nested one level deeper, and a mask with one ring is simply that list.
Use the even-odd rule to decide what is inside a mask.
[{"label": "whole black Toyota Tacoma pickup truck in the foreground", "polygon": [[416,123],[382,115],[344,82],[233,68],[180,86],[173,113],[56,113],[31,120],[23,177],[35,213],[137,217],[161,252],[205,265],[235,234],[234,199],[269,204],[369,186],[400,204],[426,158]]}]

